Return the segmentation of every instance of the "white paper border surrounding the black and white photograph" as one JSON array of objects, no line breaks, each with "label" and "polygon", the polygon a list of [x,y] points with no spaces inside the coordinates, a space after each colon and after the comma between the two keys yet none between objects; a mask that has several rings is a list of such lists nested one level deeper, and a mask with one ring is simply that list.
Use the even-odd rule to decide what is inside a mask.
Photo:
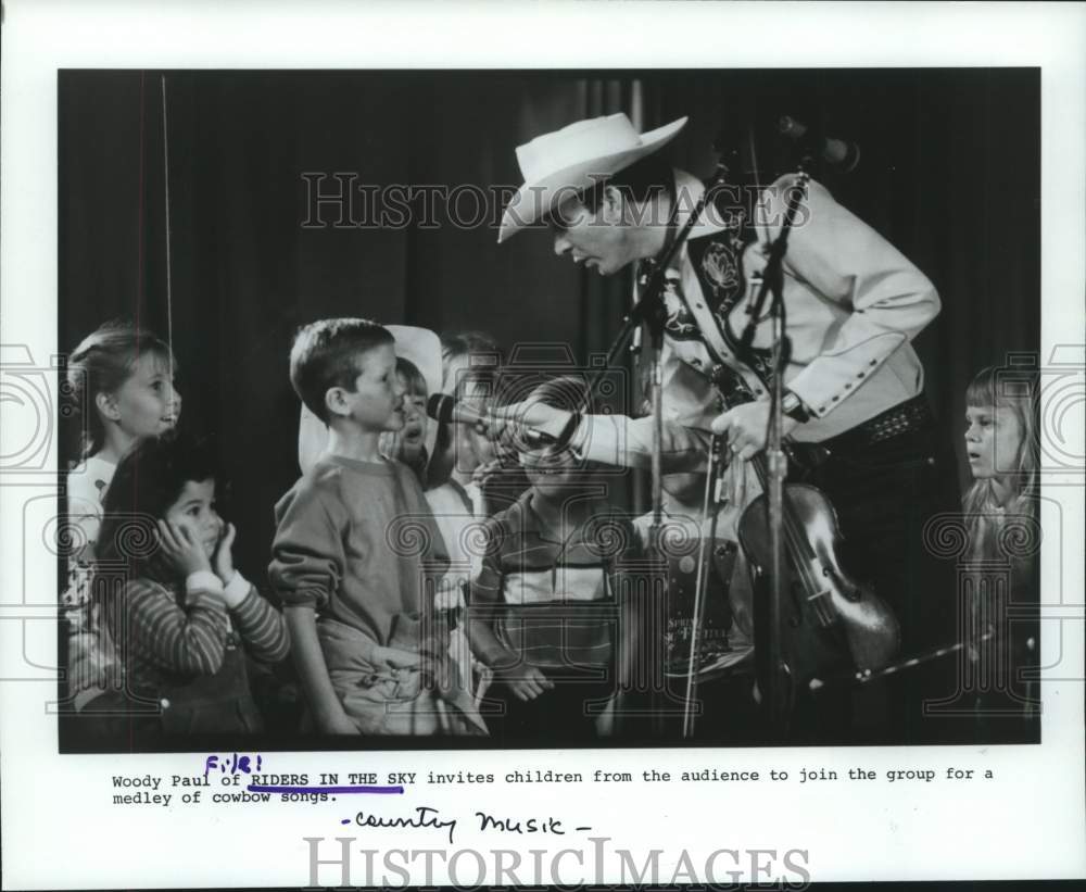
[{"label": "white paper border surrounding the black and white photograph", "polygon": [[[1043,189],[1041,357],[1082,338],[1086,293],[1086,13],[1083,4],[641,3],[502,5],[9,0],[2,30],[0,121],[0,343],[48,364],[56,340],[56,72],[59,68],[525,68],[1040,66]],[[1007,122],[1008,127],[1014,122]],[[1072,344],[1073,347],[1074,344]],[[1072,351],[1071,362],[1082,362]],[[5,354],[11,355],[11,354]],[[7,362],[7,360],[5,360]],[[55,394],[53,394],[55,395]],[[5,413],[10,417],[10,413]],[[1081,430],[1077,432],[1081,438]],[[22,438],[22,439],[20,439]],[[26,439],[0,426],[0,453]],[[45,467],[54,468],[55,442]],[[1083,455],[1083,444],[1065,452]],[[1044,481],[1043,481],[1044,482]],[[0,769],[4,888],[304,887],[305,837],[361,836],[341,818],[355,808],[171,808],[111,805],[111,777],[197,776],[193,757],[60,756],[48,667],[12,671],[36,640],[51,596],[27,603],[31,578],[52,580],[45,545],[24,549],[26,506],[55,498],[55,474],[9,476],[0,486]],[[1044,637],[1044,663],[1071,666],[1046,682],[1040,746],[825,750],[641,750],[277,753],[277,770],[493,772],[535,768],[675,774],[706,767],[894,768],[968,765],[996,781],[849,784],[844,795],[792,786],[599,784],[571,788],[454,784],[419,789],[411,807],[466,815],[476,807],[561,815],[613,845],[680,850],[803,850],[811,879],[996,880],[1086,876],[1083,759],[1083,480],[1046,493],[1061,504],[1063,566],[1046,548],[1043,579],[1061,578],[1062,636]],[[42,570],[42,567],[48,567]],[[30,629],[30,631],[27,631]],[[50,636],[45,636],[48,639]],[[52,640],[55,637],[53,636]],[[41,652],[35,646],[34,652]],[[14,659],[12,657],[15,657]],[[229,756],[230,754],[225,754]],[[397,813],[406,813],[404,803]],[[359,806],[359,807],[368,807]],[[341,815],[342,813],[342,815]],[[466,826],[466,825],[465,825]],[[405,844],[376,832],[371,846]],[[465,837],[468,842],[470,837]],[[426,838],[420,839],[420,843]],[[433,840],[430,840],[432,842]],[[439,840],[440,841],[440,840]],[[359,845],[366,841],[359,840]],[[458,840],[459,842],[459,840]],[[475,843],[479,843],[476,839]],[[467,844],[467,843],[466,843]],[[481,843],[480,843],[481,844]],[[501,839],[528,851],[550,844]],[[567,844],[565,841],[563,844]],[[58,850],[61,846],[61,850]],[[330,851],[330,850],[329,850]],[[61,854],[62,852],[62,854]],[[324,852],[321,857],[329,857]],[[610,869],[610,868],[608,868]],[[471,871],[467,871],[471,877]],[[561,878],[576,876],[567,868]],[[338,882],[334,869],[323,882]],[[364,884],[361,876],[353,878]],[[415,882],[421,877],[413,876]],[[747,877],[749,879],[749,877]],[[614,875],[584,881],[615,882]],[[396,882],[393,875],[392,882]],[[435,883],[447,881],[441,875]],[[550,878],[544,877],[544,881]]]}]

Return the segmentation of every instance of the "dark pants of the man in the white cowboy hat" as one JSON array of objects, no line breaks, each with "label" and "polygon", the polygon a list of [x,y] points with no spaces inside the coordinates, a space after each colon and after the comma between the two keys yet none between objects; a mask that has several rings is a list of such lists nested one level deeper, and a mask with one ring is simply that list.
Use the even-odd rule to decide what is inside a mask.
[{"label": "dark pants of the man in the white cowboy hat", "polygon": [[[901,659],[955,640],[955,563],[933,554],[924,541],[934,515],[960,511],[954,452],[949,442],[938,441],[934,427],[873,444],[857,445],[846,435],[800,448],[790,462],[788,480],[818,487],[833,504],[841,564],[893,610],[901,629]],[[943,658],[888,680],[811,695],[812,702],[798,708],[798,738],[951,742],[958,729],[925,715],[924,701],[951,693],[955,667],[952,658]]]}]

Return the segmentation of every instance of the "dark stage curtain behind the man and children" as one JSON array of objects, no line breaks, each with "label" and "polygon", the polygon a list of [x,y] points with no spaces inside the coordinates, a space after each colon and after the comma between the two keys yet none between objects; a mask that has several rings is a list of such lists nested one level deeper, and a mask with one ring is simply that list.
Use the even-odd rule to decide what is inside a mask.
[{"label": "dark stage curtain behind the man and children", "polygon": [[[974,370],[1037,349],[1036,70],[166,73],[168,314],[161,75],[59,75],[59,342],[71,350],[118,316],[165,336],[172,316],[182,425],[219,441],[251,578],[263,577],[273,505],[298,475],[287,356],[299,325],[365,315],[480,328],[508,349],[583,361],[606,350],[630,294],[628,275],[558,262],[541,233],[498,247],[493,199],[487,225],[454,226],[438,202],[432,227],[355,226],[375,210],[358,200],[345,225],[326,204],[328,225],[306,227],[306,173],[328,175],[325,193],[339,188],[334,173],[477,187],[463,190],[463,217],[472,194],[519,185],[515,146],[581,117],[637,105],[655,127],[690,115],[673,156],[708,175],[718,131],[727,141],[748,120],[765,140],[759,166],[785,167],[765,134],[793,114],[860,143],[859,168],[823,180],[943,297],[917,348],[946,436],[961,439]],[[420,201],[411,210],[426,222]]]}]

